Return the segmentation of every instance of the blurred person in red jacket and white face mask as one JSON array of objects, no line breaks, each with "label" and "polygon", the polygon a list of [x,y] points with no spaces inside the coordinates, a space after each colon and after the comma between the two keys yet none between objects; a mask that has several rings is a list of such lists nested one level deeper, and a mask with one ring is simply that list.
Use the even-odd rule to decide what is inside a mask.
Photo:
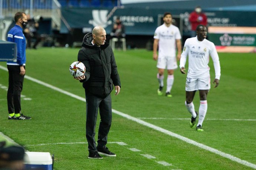
[{"label": "blurred person in red jacket and white face mask", "polygon": [[202,13],[200,6],[197,6],[195,10],[190,14],[189,21],[191,24],[191,37],[196,37],[196,27],[199,24],[207,26],[207,16]]}]

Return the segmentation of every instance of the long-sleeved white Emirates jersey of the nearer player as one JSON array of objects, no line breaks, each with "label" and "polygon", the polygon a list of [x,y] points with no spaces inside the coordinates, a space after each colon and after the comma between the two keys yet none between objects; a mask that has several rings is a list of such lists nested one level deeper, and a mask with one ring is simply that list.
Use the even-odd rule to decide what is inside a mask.
[{"label": "long-sleeved white Emirates jersey of the nearer player", "polygon": [[185,41],[180,59],[180,68],[186,64],[188,56],[188,77],[200,78],[209,76],[209,57],[213,60],[215,79],[220,80],[220,61],[214,44],[204,39],[198,41],[197,37],[189,38]]}]

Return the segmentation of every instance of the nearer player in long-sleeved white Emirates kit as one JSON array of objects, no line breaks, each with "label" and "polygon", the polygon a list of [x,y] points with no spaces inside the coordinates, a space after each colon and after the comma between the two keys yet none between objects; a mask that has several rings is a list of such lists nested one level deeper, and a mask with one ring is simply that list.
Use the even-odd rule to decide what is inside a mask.
[{"label": "nearer player in long-sleeved white Emirates kit", "polygon": [[207,111],[207,94],[210,90],[210,68],[208,66],[209,58],[213,60],[215,87],[219,85],[220,80],[220,61],[214,44],[206,39],[207,29],[203,25],[198,25],[196,29],[197,36],[185,41],[183,53],[180,59],[180,71],[185,74],[185,64],[188,56],[188,73],[186,81],[186,101],[187,110],[191,113],[190,127],[196,125],[197,113],[194,109],[193,99],[196,90],[199,90],[200,107],[197,131],[203,131],[202,124]]}]

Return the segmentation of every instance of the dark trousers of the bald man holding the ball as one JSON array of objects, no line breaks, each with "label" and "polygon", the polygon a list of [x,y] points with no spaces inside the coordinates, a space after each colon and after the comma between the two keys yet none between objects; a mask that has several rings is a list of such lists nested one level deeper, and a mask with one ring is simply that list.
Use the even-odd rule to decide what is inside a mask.
[{"label": "dark trousers of the bald man holding the ball", "polygon": [[88,141],[89,153],[94,153],[97,151],[95,142],[95,127],[98,109],[101,116],[101,121],[99,123],[97,147],[104,148],[107,143],[108,132],[111,127],[112,120],[111,95],[109,94],[105,98],[101,98],[86,92],[86,139]]}]

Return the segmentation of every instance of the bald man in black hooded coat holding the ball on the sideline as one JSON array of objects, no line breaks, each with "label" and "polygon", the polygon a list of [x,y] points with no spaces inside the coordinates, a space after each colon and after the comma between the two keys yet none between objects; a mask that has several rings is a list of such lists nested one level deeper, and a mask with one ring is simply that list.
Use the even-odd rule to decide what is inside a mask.
[{"label": "bald man in black hooded coat holding the ball on the sideline", "polygon": [[[108,132],[112,120],[111,91],[115,86],[115,95],[121,87],[115,57],[111,46],[106,43],[106,31],[97,26],[83,37],[82,48],[78,52],[78,61],[85,64],[86,72],[76,77],[83,83],[86,98],[86,139],[88,141],[88,158],[102,159],[99,155],[116,156],[106,147]],[[101,121],[98,132],[98,146],[95,142],[96,120]]]}]

